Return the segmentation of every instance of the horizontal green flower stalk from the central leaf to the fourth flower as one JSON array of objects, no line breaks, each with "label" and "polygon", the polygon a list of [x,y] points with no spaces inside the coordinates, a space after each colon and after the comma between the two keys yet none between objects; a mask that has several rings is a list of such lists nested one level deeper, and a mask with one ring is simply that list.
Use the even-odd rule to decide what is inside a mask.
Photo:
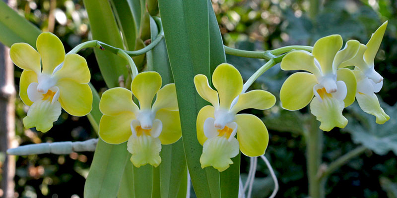
[{"label": "horizontal green flower stalk from the central leaf to the fourth flower", "polygon": [[234,49],[224,46],[225,52],[230,55],[242,56],[248,58],[261,58],[265,60],[270,60],[275,58],[276,55],[289,52],[291,50],[305,50],[311,52],[313,47],[311,46],[285,46],[278,49],[266,50],[266,51],[247,51],[241,49]]}]

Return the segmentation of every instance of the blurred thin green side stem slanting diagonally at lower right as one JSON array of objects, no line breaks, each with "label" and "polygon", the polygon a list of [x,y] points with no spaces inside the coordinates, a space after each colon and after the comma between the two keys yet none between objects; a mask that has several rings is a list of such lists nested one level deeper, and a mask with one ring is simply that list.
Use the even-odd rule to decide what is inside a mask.
[{"label": "blurred thin green side stem slanting diagonally at lower right", "polygon": [[335,170],[346,164],[348,161],[350,161],[352,158],[362,154],[367,148],[364,146],[360,146],[357,148],[354,148],[353,150],[350,150],[346,154],[340,156],[337,158],[335,161],[331,162],[330,165],[328,165],[327,169],[324,170],[320,177],[319,180],[322,180],[323,178],[327,178],[330,176]]}]

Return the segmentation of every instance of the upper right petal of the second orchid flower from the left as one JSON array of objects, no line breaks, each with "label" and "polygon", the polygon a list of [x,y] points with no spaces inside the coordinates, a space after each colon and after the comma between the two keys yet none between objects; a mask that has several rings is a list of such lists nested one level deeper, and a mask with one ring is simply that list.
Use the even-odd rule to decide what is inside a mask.
[{"label": "upper right petal of the second orchid flower from the left", "polygon": [[153,112],[156,112],[160,109],[169,111],[178,110],[177,91],[175,89],[174,83],[165,85],[157,92],[156,96],[156,101],[154,101],[152,106]]}]

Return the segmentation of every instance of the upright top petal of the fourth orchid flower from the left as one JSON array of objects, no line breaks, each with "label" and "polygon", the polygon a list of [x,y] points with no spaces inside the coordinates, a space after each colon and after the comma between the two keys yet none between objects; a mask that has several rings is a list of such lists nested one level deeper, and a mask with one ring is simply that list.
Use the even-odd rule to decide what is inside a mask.
[{"label": "upright top petal of the fourth orchid flower from the left", "polygon": [[323,74],[332,73],[332,62],[336,52],[342,48],[342,37],[330,35],[319,39],[313,46],[313,55],[319,61]]}]

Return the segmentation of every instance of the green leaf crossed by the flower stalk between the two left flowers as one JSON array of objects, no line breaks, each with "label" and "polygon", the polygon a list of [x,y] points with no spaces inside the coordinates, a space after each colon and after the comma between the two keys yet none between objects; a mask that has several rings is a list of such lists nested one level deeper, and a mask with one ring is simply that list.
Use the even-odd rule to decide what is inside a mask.
[{"label": "green leaf crossed by the flower stalk between the two left flowers", "polygon": [[[123,49],[123,40],[108,0],[83,0],[87,10],[92,39]],[[128,75],[127,62],[120,56],[94,49],[99,69],[109,88],[117,87],[119,77]]]}]

